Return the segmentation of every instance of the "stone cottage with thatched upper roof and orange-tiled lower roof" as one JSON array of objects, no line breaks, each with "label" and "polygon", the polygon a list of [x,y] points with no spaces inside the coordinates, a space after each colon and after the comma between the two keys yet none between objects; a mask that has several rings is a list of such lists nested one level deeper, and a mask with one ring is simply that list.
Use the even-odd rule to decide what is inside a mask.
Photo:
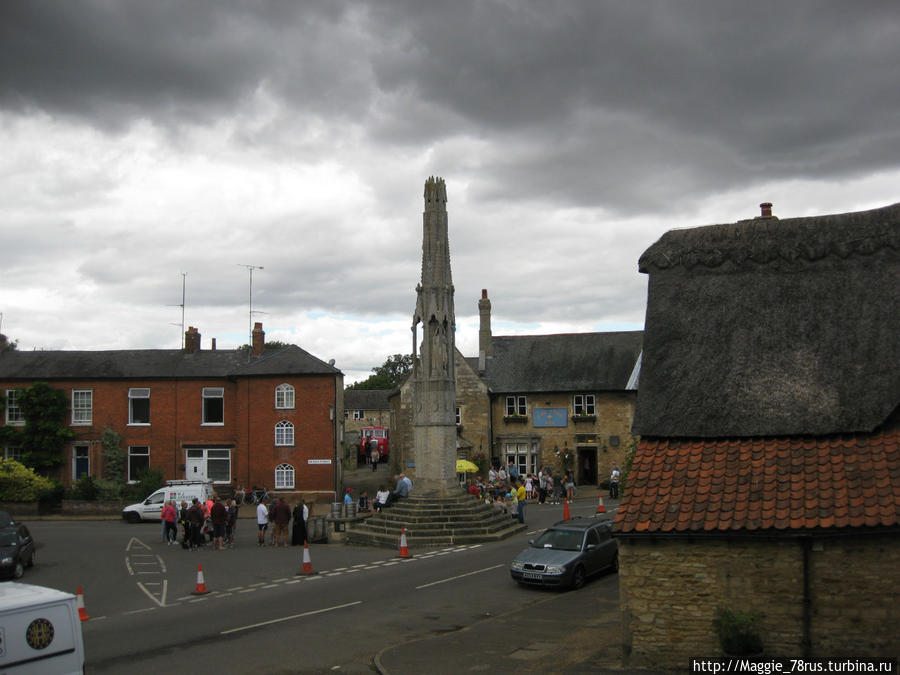
[{"label": "stone cottage with thatched upper roof and orange-tiled lower roof", "polygon": [[900,204],[673,230],[649,274],[615,518],[633,665],[720,654],[717,607],[772,657],[900,651]]}]

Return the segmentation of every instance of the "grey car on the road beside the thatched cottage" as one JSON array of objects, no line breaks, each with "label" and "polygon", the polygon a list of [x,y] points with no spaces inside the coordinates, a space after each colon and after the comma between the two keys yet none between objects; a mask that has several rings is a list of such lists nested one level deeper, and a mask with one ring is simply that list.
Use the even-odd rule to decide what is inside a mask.
[{"label": "grey car on the road beside the thatched cottage", "polygon": [[599,572],[619,571],[619,544],[608,520],[560,521],[528,543],[509,568],[523,585],[581,588]]}]

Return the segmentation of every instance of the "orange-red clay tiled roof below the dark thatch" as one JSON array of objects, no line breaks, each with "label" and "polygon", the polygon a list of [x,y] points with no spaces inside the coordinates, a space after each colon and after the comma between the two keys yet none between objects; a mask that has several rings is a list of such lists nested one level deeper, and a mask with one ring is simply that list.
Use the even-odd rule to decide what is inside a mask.
[{"label": "orange-red clay tiled roof below the dark thatch", "polygon": [[900,429],[642,440],[615,518],[623,534],[757,534],[900,525]]}]

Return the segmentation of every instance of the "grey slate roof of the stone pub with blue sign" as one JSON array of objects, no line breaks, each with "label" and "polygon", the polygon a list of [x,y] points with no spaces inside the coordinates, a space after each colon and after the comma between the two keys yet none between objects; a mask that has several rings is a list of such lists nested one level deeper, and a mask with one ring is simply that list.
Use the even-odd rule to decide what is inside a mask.
[{"label": "grey slate roof of the stone pub with blue sign", "polygon": [[494,393],[623,391],[642,340],[642,331],[497,336],[483,378]]}]

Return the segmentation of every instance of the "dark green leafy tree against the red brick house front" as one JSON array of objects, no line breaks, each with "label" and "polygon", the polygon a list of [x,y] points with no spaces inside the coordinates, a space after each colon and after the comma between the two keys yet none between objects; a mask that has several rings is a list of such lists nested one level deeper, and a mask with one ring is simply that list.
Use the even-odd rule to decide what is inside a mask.
[{"label": "dark green leafy tree against the red brick house front", "polygon": [[75,438],[65,424],[68,397],[46,382],[35,382],[20,392],[19,407],[25,416],[22,459],[35,470],[49,473],[63,464],[63,448]]}]

